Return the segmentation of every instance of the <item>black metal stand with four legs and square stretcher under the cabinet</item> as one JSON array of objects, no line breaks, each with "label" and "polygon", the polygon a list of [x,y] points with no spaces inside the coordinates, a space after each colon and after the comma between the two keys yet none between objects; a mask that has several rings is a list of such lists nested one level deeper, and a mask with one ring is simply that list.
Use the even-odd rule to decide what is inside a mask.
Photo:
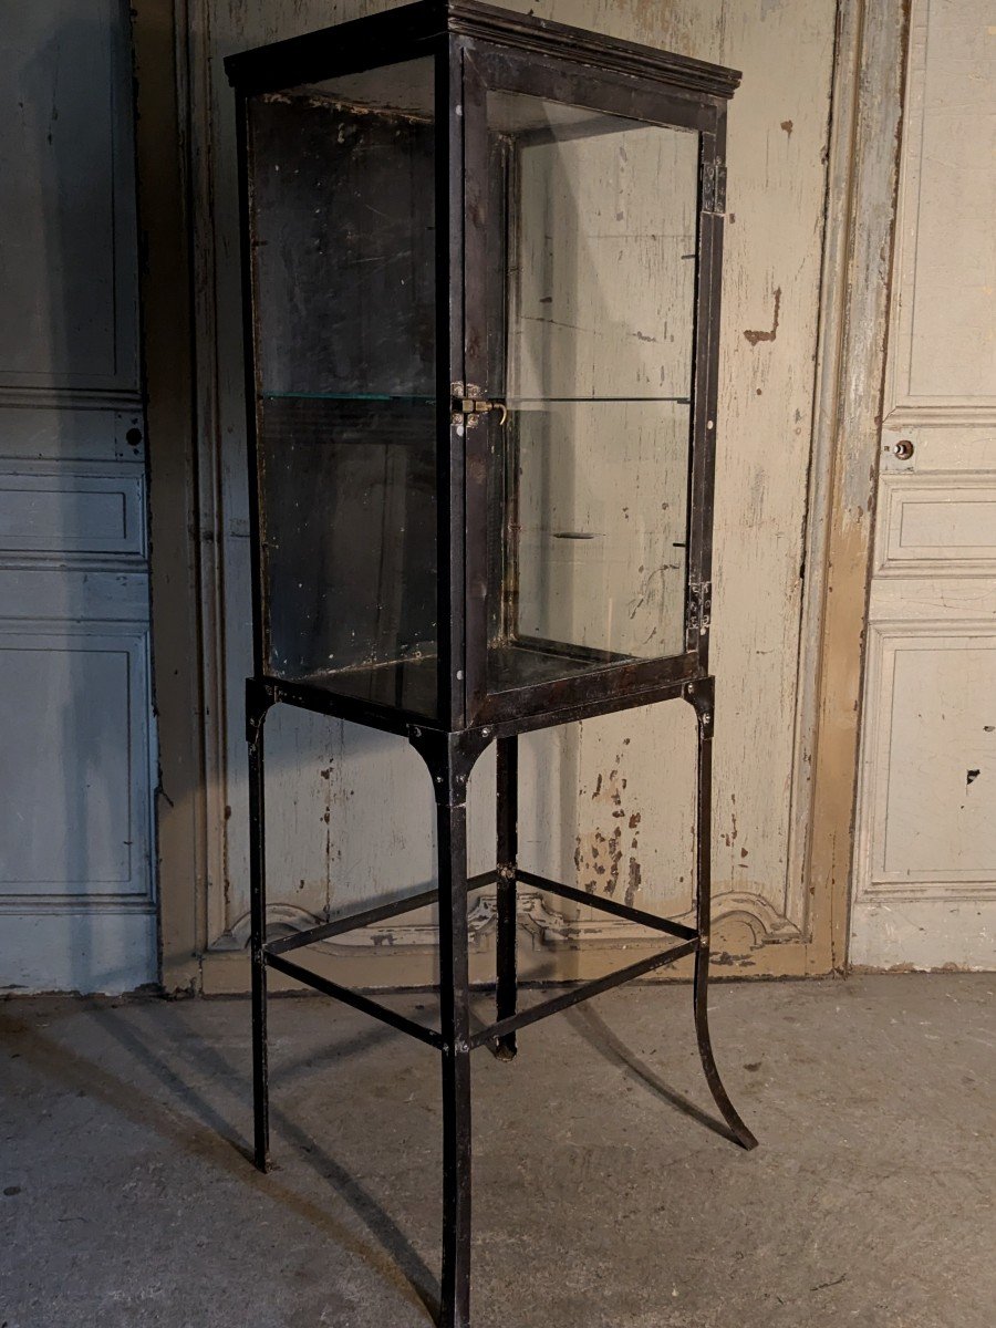
[{"label": "black metal stand with four legs and square stretcher under the cabinet", "polygon": [[[518,734],[539,728],[535,718],[519,725],[513,722],[449,733],[441,729],[408,724],[405,732],[420,752],[433,780],[438,842],[438,888],[406,899],[368,908],[363,912],[321,923],[305,931],[266,939],[266,827],[264,827],[264,722],[278,701],[317,709],[344,718],[364,721],[356,706],[341,699],[316,693],[315,689],[270,679],[251,679],[247,684],[247,737],[250,746],[250,883],[251,883],[251,960],[252,960],[252,1089],[255,1125],[255,1162],[260,1171],[270,1166],[268,1076],[267,1076],[267,968],[312,987],[325,996],[352,1005],[374,1019],[436,1048],[442,1056],[442,1309],[441,1328],[470,1325],[470,1053],[490,1046],[501,1058],[515,1056],[515,1037],[521,1028],[535,1024],[547,1015],[567,1009],[578,1001],[598,996],[632,977],[661,968],[685,955],[695,955],[693,1012],[699,1053],[716,1106],[726,1122],[729,1138],[744,1149],[753,1149],[757,1139],[742,1122],[722,1086],[709,1038],[709,898],[710,898],[710,811],[712,811],[712,736],[714,687],[712,677],[700,677],[660,689],[653,696],[631,697],[627,705],[643,700],[684,697],[695,706],[697,726],[697,825],[696,825],[696,926],[685,927],[667,918],[587,894],[546,876],[519,869],[517,858],[518,819]],[[580,713],[547,716],[542,726],[560,724]],[[369,722],[369,717],[367,717]],[[382,726],[382,725],[378,725]],[[467,876],[466,790],[470,772],[483,749],[497,742],[497,865],[493,871]],[[498,887],[497,942],[497,1021],[479,1032],[470,1031],[470,984],[467,969],[467,896],[483,886]],[[517,1009],[515,894],[517,884],[600,908],[643,927],[665,932],[677,943],[664,951],[644,956],[636,963],[603,977],[579,983],[550,996],[529,1009]],[[424,1028],[413,1020],[381,1005],[378,1001],[340,987],[309,972],[288,957],[320,940],[343,935],[360,927],[384,922],[398,914],[438,903],[440,908],[440,1031]]]}]

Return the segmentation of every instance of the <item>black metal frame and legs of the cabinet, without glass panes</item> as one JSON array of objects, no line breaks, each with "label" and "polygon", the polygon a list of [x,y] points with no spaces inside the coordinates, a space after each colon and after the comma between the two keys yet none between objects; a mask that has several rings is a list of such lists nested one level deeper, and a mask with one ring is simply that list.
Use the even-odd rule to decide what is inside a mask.
[{"label": "black metal frame and legs of the cabinet, without glass panes", "polygon": [[[426,713],[389,704],[374,691],[336,691],[336,675],[280,677],[270,657],[267,544],[260,521],[256,454],[256,365],[259,327],[254,250],[252,149],[247,101],[262,93],[309,88],[323,80],[430,57],[434,61],[434,275],[436,275],[436,687]],[[610,991],[677,959],[695,956],[695,1023],[705,1078],[732,1137],[753,1147],[754,1137],[732,1106],[720,1080],[708,1025],[710,798],[713,679],[709,675],[713,469],[717,406],[720,268],[724,227],[726,101],[740,76],[716,65],[602,37],[580,29],[509,13],[475,0],[420,0],[355,23],[340,24],[226,60],[238,90],[240,230],[248,474],[251,511],[254,651],[247,683],[250,748],[250,886],[252,963],[252,1082],[255,1161],[268,1166],[267,968],[363,1011],[426,1042],[441,1054],[444,1118],[442,1328],[470,1325],[470,1053],[490,1045],[511,1060],[517,1033],[548,1015]],[[503,604],[493,599],[495,548],[489,511],[499,491],[490,456],[495,450],[505,396],[494,339],[503,341],[501,307],[509,266],[507,228],[501,222],[515,167],[486,130],[489,90],[523,93],[583,106],[599,117],[673,126],[697,133],[699,223],[689,426],[691,465],[685,531],[685,635],[683,648],[660,659],[590,652],[586,672],[555,681],[489,684],[489,633]],[[580,127],[578,135],[587,133]],[[542,130],[538,130],[542,133]],[[505,154],[505,155],[502,155]],[[426,182],[428,185],[428,182]],[[490,216],[490,220],[489,220]],[[495,218],[499,219],[495,231]],[[495,240],[495,234],[503,239]],[[691,258],[692,255],[684,255]],[[432,320],[429,320],[432,323]],[[491,339],[489,341],[489,337]],[[465,390],[466,389],[466,390]],[[489,390],[490,389],[490,390]],[[424,390],[424,389],[422,389]],[[453,401],[459,405],[453,410]],[[684,398],[683,398],[684,400]],[[466,402],[466,406],[465,406]],[[503,406],[502,406],[503,409]],[[511,446],[511,445],[510,445]],[[511,453],[514,457],[514,453]],[[507,470],[506,470],[507,473]],[[305,494],[321,502],[321,494]],[[514,503],[514,497],[510,502]],[[509,518],[515,521],[513,513]],[[490,540],[490,543],[489,543]],[[497,598],[497,596],[495,596]],[[537,643],[539,644],[539,643]],[[583,651],[583,647],[574,647]],[[595,657],[595,655],[598,657]],[[341,684],[340,684],[341,685]],[[397,689],[396,700],[401,696]],[[695,706],[697,740],[696,926],[688,927],[616,900],[522,870],[518,863],[518,738],[539,728],[683,697]],[[433,781],[437,815],[438,887],[305,931],[266,938],[266,815],[263,729],[268,709],[287,704],[396,733],[420,752]],[[406,693],[406,705],[421,704]],[[497,744],[495,869],[467,879],[466,790],[475,761]],[[467,896],[497,882],[497,1019],[471,1035],[467,955]],[[517,1008],[517,894],[521,886],[676,938],[604,977],[586,981],[529,1009]],[[381,1003],[311,972],[288,954],[359,927],[438,903],[440,1029],[425,1028]]]}]

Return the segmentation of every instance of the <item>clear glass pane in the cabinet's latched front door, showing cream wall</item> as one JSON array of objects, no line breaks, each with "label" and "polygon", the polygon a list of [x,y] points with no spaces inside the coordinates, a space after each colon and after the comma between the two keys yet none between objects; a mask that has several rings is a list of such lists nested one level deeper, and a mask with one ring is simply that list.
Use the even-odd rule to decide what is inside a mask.
[{"label": "clear glass pane in the cabinet's latched front door, showing cream wall", "polygon": [[699,135],[518,93],[487,120],[501,692],[684,652]]}]

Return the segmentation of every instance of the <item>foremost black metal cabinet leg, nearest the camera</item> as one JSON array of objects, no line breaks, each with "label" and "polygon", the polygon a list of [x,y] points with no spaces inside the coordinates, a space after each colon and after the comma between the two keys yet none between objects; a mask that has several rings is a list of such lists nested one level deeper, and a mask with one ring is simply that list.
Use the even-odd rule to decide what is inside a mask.
[{"label": "foremost black metal cabinet leg, nearest the camera", "polygon": [[[462,799],[463,794],[458,794]],[[470,991],[467,811],[437,805],[440,845],[440,1012],[442,1032],[441,1328],[470,1328]]]}]

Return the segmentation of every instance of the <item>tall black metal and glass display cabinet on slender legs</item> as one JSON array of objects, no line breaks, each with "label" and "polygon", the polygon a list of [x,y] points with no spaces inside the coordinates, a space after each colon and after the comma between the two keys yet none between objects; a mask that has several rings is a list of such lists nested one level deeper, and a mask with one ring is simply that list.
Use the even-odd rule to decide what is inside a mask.
[{"label": "tall black metal and glass display cabinet on slender legs", "polygon": [[[424,0],[226,61],[236,89],[252,507],[247,684],[255,1154],[267,968],[428,1042],[444,1094],[442,1324],[470,1321],[470,1053],[695,956],[709,1044],[709,607],[726,102],[738,74]],[[697,924],[522,870],[518,736],[683,699],[697,728]],[[438,890],[266,939],[263,729],[284,703],[405,736]],[[466,788],[497,744],[497,863]],[[523,882],[656,928],[660,954],[519,1009]],[[471,1032],[467,895],[497,883],[497,1020]],[[438,902],[440,1028],[297,951]],[[295,957],[292,957],[295,956]]]}]

